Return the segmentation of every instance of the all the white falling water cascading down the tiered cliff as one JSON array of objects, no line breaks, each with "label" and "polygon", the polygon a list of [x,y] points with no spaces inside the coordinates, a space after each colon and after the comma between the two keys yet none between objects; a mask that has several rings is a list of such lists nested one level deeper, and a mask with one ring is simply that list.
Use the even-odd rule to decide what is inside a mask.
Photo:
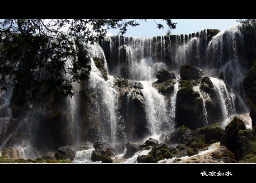
[{"label": "all the white falling water cascading down the tiered cliff", "polygon": [[[146,127],[149,131],[147,135],[158,138],[163,132],[172,131],[176,125],[176,98],[177,92],[180,89],[180,78],[173,85],[172,94],[168,96],[161,94],[153,84],[157,81],[157,72],[163,69],[175,71],[178,78],[179,69],[184,63],[191,63],[196,67],[200,67],[205,71],[205,76],[210,76],[210,80],[214,84],[219,108],[222,112],[221,125],[223,127],[227,125],[227,119],[237,113],[237,106],[242,106],[240,108],[243,110],[240,111],[244,113],[249,112],[242,89],[242,79],[246,76],[248,68],[241,67],[241,62],[245,59],[245,56],[242,54],[244,52],[244,41],[240,27],[234,26],[225,31],[220,31],[210,41],[207,34],[208,31],[203,30],[190,35],[147,38],[112,36],[107,37],[106,41],[99,43],[99,45],[88,45],[89,56],[99,59],[106,69],[108,79],[105,80],[102,77],[102,73],[92,59],[90,79],[83,86],[87,88],[86,94],[90,95],[88,97],[90,100],[85,97],[84,103],[78,105],[78,103],[81,103],[79,98],[81,97],[81,85],[74,85],[76,92],[74,97],[69,99],[68,103],[70,105],[68,108],[71,112],[72,124],[70,128],[67,128],[73,136],[76,134],[73,137],[75,142],[72,143],[76,145],[88,140],[86,135],[83,138],[81,137],[85,133],[91,135],[90,139],[100,139],[108,143],[118,143],[120,140],[126,140],[127,126],[125,125],[130,124],[128,123],[129,121],[126,124],[123,123],[118,107],[121,106],[120,103],[123,100],[128,101],[126,109],[122,108],[122,110],[125,111],[124,113],[129,114],[129,120],[135,118],[135,116],[132,116],[132,112],[135,111],[132,111],[130,106],[132,106],[134,93],[140,93],[140,91],[136,90],[137,88],[134,85],[126,85],[128,88],[130,87],[129,90],[123,92],[126,98],[120,99],[119,92],[121,91],[116,89],[119,83],[116,83],[114,77],[117,75],[141,83],[143,104],[139,107],[144,107],[145,110]],[[241,57],[243,58],[241,59]],[[222,79],[230,87],[229,90],[223,80],[216,78],[217,75],[219,76],[219,73],[223,74]],[[194,89],[203,98],[199,85]],[[2,136],[8,131],[8,125],[12,121],[11,110],[8,108],[10,96],[8,94],[5,96],[1,94],[0,104],[3,105],[0,110],[6,111],[1,113],[6,114],[5,116],[0,116],[0,134]],[[45,108],[45,106],[41,108],[43,107]],[[80,108],[83,107],[87,110],[81,113]],[[202,111],[205,125],[207,125],[209,116],[204,98]],[[85,119],[80,120],[82,118],[80,115],[85,115]],[[28,118],[27,121],[32,120]],[[140,121],[136,122],[139,123]],[[87,126],[82,129],[82,125],[77,123]],[[35,125],[34,129],[36,127],[37,125]],[[130,131],[138,130],[133,129],[135,128],[134,126],[131,128],[132,130]],[[120,134],[124,134],[123,138],[120,138]],[[28,136],[32,138],[32,135]],[[12,136],[9,135],[8,137],[11,138]],[[5,141],[8,141],[8,139],[5,139]],[[1,147],[4,146],[5,142],[2,142]],[[75,161],[80,162],[83,159],[88,159],[92,150],[79,152]],[[135,161],[135,159],[130,161]]]}]

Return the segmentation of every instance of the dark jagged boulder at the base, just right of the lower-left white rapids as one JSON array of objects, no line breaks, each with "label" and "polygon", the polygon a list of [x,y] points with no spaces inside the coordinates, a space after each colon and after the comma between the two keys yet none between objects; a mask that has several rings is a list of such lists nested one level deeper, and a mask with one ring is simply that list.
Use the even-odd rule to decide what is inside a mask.
[{"label": "dark jagged boulder at the base, just right of the lower-left white rapids", "polygon": [[109,157],[114,155],[112,152],[112,147],[108,143],[96,142],[93,147],[95,150],[92,153],[92,161],[102,161],[102,156]]}]

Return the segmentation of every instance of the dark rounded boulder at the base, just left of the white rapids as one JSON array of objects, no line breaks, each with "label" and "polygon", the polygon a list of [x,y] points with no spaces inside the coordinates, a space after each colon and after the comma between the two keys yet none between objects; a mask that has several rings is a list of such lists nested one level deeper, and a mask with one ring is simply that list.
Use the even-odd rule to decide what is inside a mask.
[{"label": "dark rounded boulder at the base, just left of the white rapids", "polygon": [[70,159],[70,161],[73,161],[75,154],[76,154],[76,151],[74,147],[62,146],[58,148],[54,156],[56,157],[56,160]]}]

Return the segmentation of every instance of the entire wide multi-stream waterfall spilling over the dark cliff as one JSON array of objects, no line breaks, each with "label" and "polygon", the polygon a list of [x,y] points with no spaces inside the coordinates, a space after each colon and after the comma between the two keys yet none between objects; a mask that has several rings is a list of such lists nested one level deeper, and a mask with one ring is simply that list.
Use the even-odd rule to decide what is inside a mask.
[{"label": "entire wide multi-stream waterfall spilling over the dark cliff", "polygon": [[[42,121],[45,122],[44,112],[47,111],[47,104],[38,104],[37,108],[36,105],[31,106],[23,117],[13,119],[10,107],[11,94],[1,92],[0,136],[4,138],[0,139],[0,147],[4,148],[9,139],[13,137],[12,135],[17,135],[19,139],[22,139],[22,144],[27,143],[26,140],[29,139],[33,143],[28,143],[26,147],[21,148],[21,154],[25,157],[27,156],[25,154],[33,149],[34,144],[37,144],[38,141],[39,143],[45,142],[46,136],[42,135],[45,133],[44,130],[49,130],[47,131],[49,134],[58,132],[58,134],[54,134],[56,136],[67,135],[68,137],[58,136],[58,140],[66,138],[61,143],[71,143],[74,146],[87,140],[119,143],[127,140],[126,135],[128,136],[128,134],[126,133],[140,134],[144,129],[149,132],[146,134],[147,137],[158,139],[161,134],[171,132],[176,127],[176,119],[178,119],[176,99],[180,89],[178,75],[180,67],[185,63],[200,67],[204,70],[205,76],[210,76],[221,111],[216,115],[221,115],[220,123],[224,128],[233,115],[238,112],[249,112],[242,87],[242,80],[248,72],[245,41],[240,25],[219,31],[212,38],[209,38],[209,32],[205,29],[189,35],[145,38],[111,36],[106,37],[105,41],[99,42],[99,44],[84,45],[88,56],[91,57],[90,78],[83,85],[74,83],[74,96],[67,98],[63,106],[56,109],[63,110],[65,108],[61,112],[65,113],[63,124],[66,126],[62,128],[58,126],[56,131],[51,132],[51,129],[47,129],[51,124],[40,124]],[[107,79],[104,79],[92,58],[98,58],[102,63],[107,71]],[[174,71],[178,78],[175,84],[172,83],[168,94],[161,93],[158,86],[156,87],[156,74],[163,69]],[[120,78],[126,79],[127,82],[118,83],[119,81],[115,77],[118,75]],[[138,86],[138,83],[141,85]],[[170,81],[158,84],[168,85]],[[193,89],[203,99],[200,112],[204,115],[205,125],[208,125],[212,114],[206,110],[205,103],[208,98],[206,99],[205,93],[200,90],[199,85]],[[136,94],[140,94],[139,99],[135,98]],[[139,102],[135,99],[138,99]],[[124,106],[126,107],[120,109],[120,103],[123,101],[125,101]],[[50,111],[49,116],[55,112],[52,108],[50,110],[53,112]],[[144,116],[135,118],[134,115]],[[39,119],[39,116],[43,119]],[[14,121],[19,121],[19,125],[23,128],[20,128]],[[128,128],[127,125],[131,126]],[[13,127],[17,129],[12,129]],[[38,131],[42,137],[40,135],[38,135],[40,137],[34,137]],[[19,134],[21,135],[19,136]],[[55,139],[54,135],[52,135],[52,139]],[[51,143],[51,138],[47,139],[47,143]],[[72,139],[70,140],[70,138]],[[79,152],[75,161],[89,159],[91,152],[92,149]],[[135,161],[135,159],[131,161]]]}]

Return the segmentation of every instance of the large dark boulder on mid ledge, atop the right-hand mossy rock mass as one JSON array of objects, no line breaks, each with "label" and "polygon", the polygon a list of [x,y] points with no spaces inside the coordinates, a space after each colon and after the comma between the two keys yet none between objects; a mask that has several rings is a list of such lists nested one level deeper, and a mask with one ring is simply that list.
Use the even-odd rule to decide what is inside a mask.
[{"label": "large dark boulder on mid ledge, atop the right-hand mossy rock mass", "polygon": [[196,80],[202,78],[204,71],[191,64],[184,64],[180,69],[182,80]]}]

